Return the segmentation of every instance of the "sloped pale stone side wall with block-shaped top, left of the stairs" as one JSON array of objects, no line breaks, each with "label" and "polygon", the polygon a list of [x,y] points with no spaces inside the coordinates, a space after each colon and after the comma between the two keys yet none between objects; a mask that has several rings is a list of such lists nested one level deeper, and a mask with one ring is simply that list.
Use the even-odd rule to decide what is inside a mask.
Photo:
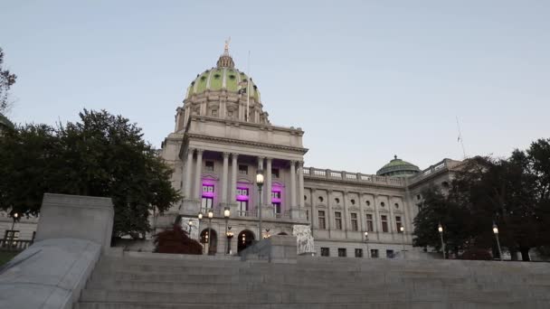
[{"label": "sloped pale stone side wall with block-shaped top, left of the stairs", "polygon": [[71,309],[110,246],[110,199],[44,194],[34,244],[0,268],[0,308]]}]

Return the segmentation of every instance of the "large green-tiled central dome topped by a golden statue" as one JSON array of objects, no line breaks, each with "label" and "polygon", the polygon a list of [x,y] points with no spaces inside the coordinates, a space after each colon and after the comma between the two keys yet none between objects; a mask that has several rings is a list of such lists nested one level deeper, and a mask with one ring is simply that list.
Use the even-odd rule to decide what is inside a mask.
[{"label": "large green-tiled central dome topped by a golden statue", "polygon": [[[228,92],[234,92],[235,94],[244,95],[247,89],[246,82],[249,80],[251,79],[244,74],[244,72],[234,68],[234,63],[229,53],[224,53],[220,57],[220,60],[218,60],[217,67],[197,74],[196,79],[194,79],[187,88],[185,98],[191,98],[194,95],[202,94],[206,90],[226,90]],[[251,81],[249,88],[251,98],[260,102],[260,91],[258,91],[258,87],[253,81]]]}]

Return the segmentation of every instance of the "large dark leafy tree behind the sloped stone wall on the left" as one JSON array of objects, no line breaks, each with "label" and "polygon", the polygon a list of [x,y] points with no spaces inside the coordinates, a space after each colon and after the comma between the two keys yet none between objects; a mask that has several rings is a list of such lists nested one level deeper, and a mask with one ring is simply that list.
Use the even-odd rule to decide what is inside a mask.
[{"label": "large dark leafy tree behind the sloped stone wall on the left", "polygon": [[106,196],[115,209],[113,237],[140,238],[151,211],[181,198],[172,171],[127,118],[86,109],[80,117],[57,128],[19,127],[0,141],[0,207],[35,215],[44,192]]}]

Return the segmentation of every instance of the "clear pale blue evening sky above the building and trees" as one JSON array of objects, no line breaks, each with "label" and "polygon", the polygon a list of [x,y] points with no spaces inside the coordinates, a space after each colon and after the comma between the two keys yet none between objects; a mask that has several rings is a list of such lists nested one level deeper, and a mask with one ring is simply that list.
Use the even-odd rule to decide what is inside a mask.
[{"label": "clear pale blue evening sky above the building and trees", "polygon": [[550,1],[1,1],[14,122],[105,108],[160,146],[223,40],[306,165],[375,173],[550,137]]}]

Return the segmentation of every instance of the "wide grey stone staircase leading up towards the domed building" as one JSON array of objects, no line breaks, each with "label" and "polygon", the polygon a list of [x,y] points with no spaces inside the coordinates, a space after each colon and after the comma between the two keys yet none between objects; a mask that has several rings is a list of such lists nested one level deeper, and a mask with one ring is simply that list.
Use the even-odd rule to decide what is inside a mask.
[{"label": "wide grey stone staircase leading up towards the domed building", "polygon": [[547,263],[102,257],[76,309],[550,308]]}]

